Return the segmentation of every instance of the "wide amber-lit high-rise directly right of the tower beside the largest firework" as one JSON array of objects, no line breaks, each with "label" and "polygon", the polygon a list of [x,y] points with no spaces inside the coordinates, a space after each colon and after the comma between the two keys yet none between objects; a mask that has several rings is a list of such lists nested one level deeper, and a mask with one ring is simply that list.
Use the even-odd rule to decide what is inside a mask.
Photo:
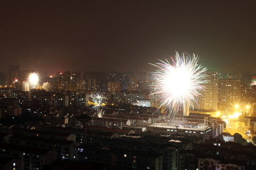
[{"label": "wide amber-lit high-rise directly right of the tower beside the largest firework", "polygon": [[231,105],[240,103],[241,81],[219,80],[218,81],[218,109],[226,109]]}]

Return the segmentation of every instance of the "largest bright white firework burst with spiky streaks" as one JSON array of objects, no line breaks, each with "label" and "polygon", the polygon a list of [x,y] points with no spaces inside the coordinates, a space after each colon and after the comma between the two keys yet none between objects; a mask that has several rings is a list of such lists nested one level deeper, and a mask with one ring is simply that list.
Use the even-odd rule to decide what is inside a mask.
[{"label": "largest bright white firework burst with spiky streaks", "polygon": [[[171,57],[171,63],[166,59],[156,64],[155,84],[152,86],[152,95],[160,101],[159,108],[165,108],[167,112],[185,109],[185,105],[193,108],[196,96],[200,96],[200,90],[204,89],[207,69],[198,65],[198,57],[194,54],[179,55],[176,52]],[[166,114],[165,112],[165,114]]]}]

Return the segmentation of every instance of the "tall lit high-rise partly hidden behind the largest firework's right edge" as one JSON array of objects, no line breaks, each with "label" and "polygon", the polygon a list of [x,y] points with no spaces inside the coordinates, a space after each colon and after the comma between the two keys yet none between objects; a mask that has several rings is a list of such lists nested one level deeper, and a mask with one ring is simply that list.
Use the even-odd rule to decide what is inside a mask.
[{"label": "tall lit high-rise partly hidden behind the largest firework's right edge", "polygon": [[200,96],[197,96],[194,102],[194,110],[217,110],[218,109],[218,73],[214,71],[205,71],[207,82],[205,89],[201,90]]}]

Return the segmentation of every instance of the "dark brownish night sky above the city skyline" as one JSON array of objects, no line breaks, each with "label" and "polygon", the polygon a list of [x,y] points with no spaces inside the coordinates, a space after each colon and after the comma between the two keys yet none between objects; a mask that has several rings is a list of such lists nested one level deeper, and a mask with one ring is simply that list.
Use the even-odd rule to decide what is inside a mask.
[{"label": "dark brownish night sky above the city skyline", "polygon": [[0,72],[152,71],[175,50],[256,72],[256,0],[0,1]]}]

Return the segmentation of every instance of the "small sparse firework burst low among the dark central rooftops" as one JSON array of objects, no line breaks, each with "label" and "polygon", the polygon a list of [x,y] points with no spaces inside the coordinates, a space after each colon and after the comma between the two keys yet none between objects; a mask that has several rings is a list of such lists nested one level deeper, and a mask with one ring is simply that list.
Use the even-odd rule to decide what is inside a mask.
[{"label": "small sparse firework burst low among the dark central rooftops", "polygon": [[106,105],[104,102],[104,97],[100,93],[94,93],[93,96],[91,97],[91,101],[93,104],[92,109],[96,111],[99,117],[102,117],[104,114],[104,106]]}]

